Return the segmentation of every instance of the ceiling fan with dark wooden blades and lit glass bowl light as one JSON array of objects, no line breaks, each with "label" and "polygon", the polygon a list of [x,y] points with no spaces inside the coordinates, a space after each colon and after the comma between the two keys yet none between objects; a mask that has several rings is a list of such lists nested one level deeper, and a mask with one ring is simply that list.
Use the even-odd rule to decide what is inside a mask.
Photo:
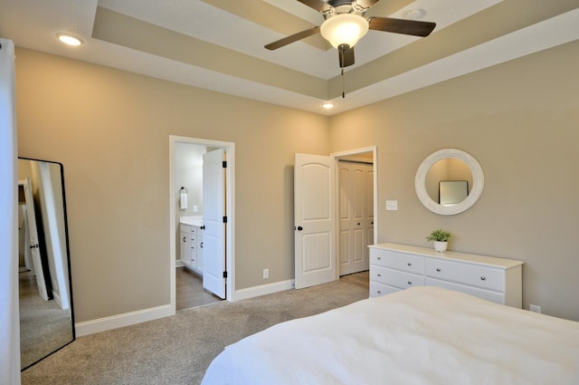
[{"label": "ceiling fan with dark wooden blades and lit glass bowl light", "polygon": [[277,50],[313,34],[321,34],[324,39],[337,49],[339,64],[342,69],[354,64],[354,45],[369,29],[424,37],[431,34],[436,26],[435,23],[431,22],[395,19],[392,17],[373,16],[366,19],[364,17],[365,12],[379,0],[298,1],[321,13],[324,16],[324,23],[297,34],[291,34],[264,47],[271,51]]}]

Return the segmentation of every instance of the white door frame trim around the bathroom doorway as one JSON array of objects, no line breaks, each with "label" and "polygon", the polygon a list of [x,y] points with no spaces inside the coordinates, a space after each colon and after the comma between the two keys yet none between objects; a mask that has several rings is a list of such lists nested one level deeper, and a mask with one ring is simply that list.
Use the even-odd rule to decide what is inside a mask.
[{"label": "white door frame trim around the bathroom doorway", "polygon": [[227,158],[227,168],[225,169],[225,206],[227,212],[227,223],[225,224],[225,267],[226,278],[226,300],[235,301],[235,143],[221,140],[205,140],[189,138],[176,135],[169,135],[169,292],[170,292],[170,313],[176,313],[176,191],[174,191],[175,180],[175,146],[176,143],[196,144],[225,149]]}]

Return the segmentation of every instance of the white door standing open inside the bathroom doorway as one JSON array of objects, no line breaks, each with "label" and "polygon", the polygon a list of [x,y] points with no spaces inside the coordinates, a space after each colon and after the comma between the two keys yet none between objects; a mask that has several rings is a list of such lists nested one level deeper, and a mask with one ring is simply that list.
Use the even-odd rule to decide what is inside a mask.
[{"label": "white door standing open inside the bathroom doorway", "polygon": [[225,151],[203,154],[203,287],[225,298]]}]

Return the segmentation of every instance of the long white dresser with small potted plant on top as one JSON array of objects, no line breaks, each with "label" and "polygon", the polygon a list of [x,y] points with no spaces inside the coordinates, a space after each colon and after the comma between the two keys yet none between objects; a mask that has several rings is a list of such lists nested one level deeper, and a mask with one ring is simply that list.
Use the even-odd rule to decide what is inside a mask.
[{"label": "long white dresser with small potted plant on top", "polygon": [[439,286],[522,306],[522,261],[409,245],[370,245],[370,296],[412,286]]}]

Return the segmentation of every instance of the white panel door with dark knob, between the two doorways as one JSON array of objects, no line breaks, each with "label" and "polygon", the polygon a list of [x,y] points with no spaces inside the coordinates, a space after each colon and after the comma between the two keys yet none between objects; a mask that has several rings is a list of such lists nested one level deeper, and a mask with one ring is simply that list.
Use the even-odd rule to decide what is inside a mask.
[{"label": "white panel door with dark knob, between the two doorways", "polygon": [[333,158],[296,154],[294,169],[296,289],[337,279],[336,173]]}]

